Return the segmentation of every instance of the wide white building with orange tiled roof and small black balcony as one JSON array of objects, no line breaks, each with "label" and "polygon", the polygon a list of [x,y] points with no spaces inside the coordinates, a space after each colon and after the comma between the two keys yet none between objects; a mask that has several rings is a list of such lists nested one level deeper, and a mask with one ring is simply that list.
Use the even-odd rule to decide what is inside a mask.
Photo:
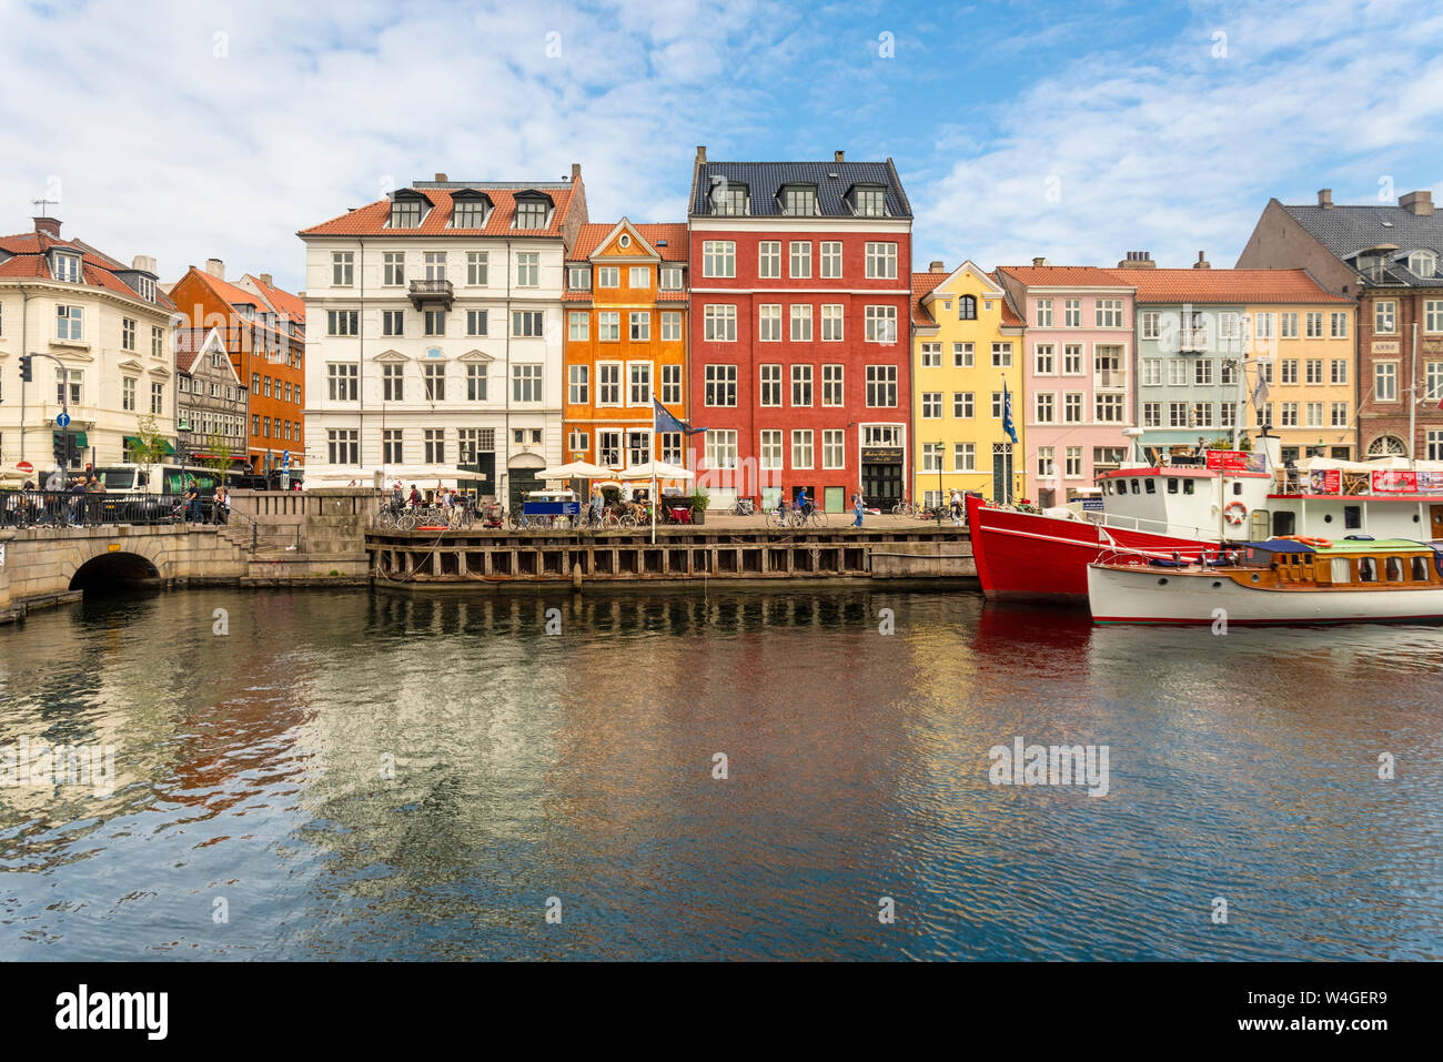
[{"label": "wide white building with orange tiled roof and small black balcony", "polygon": [[[564,460],[567,250],[582,167],[550,183],[417,182],[303,229],[306,482],[397,473],[511,499]],[[449,472],[449,475],[447,475]]]}]

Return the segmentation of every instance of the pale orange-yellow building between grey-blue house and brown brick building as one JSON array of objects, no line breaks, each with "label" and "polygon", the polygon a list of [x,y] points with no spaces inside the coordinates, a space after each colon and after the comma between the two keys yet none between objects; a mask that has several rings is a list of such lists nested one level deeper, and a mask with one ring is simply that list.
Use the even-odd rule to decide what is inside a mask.
[{"label": "pale orange-yellow building between grey-blue house and brown brick building", "polygon": [[1250,395],[1247,423],[1253,431],[1273,426],[1284,462],[1315,455],[1361,460],[1355,307],[1322,289],[1313,297],[1319,302],[1247,306],[1248,388],[1255,390],[1258,372],[1267,381],[1261,410]]}]

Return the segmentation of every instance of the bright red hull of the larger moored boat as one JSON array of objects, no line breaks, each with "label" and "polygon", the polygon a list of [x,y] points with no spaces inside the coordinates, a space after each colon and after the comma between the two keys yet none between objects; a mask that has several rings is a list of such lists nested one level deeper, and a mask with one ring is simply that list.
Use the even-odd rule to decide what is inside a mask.
[{"label": "bright red hull of the larger moored boat", "polygon": [[1102,550],[1115,545],[1196,560],[1202,550],[1218,548],[1218,543],[1113,527],[1108,541],[1097,524],[999,509],[980,498],[967,499],[967,524],[977,579],[993,600],[1087,606],[1087,566]]}]

